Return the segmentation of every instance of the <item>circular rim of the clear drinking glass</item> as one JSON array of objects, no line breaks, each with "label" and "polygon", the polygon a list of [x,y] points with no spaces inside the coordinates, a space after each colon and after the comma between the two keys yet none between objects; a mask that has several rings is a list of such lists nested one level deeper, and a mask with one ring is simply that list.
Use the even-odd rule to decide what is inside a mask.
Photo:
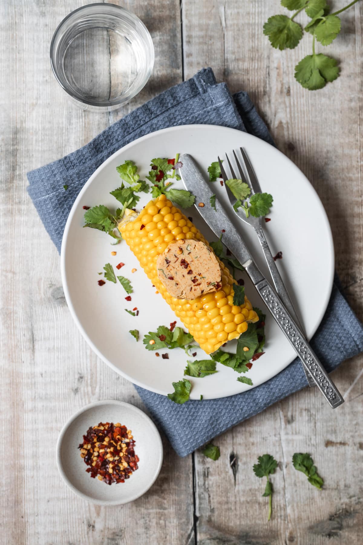
[{"label": "circular rim of the clear drinking glass", "polygon": [[[117,10],[125,11],[137,24],[139,24],[141,26],[141,28],[144,29],[145,38],[148,41],[148,46],[150,48],[149,49],[150,64],[149,64],[149,67],[147,68],[147,71],[146,71],[145,77],[143,79],[143,82],[134,90],[134,92],[130,96],[128,96],[127,99],[119,98],[119,99],[114,99],[112,101],[105,100],[103,102],[95,102],[93,100],[88,100],[87,98],[81,98],[80,95],[76,94],[75,92],[72,92],[71,88],[67,88],[65,86],[63,80],[59,77],[58,70],[56,68],[56,63],[54,62],[54,45],[56,43],[56,40],[58,38],[58,34],[59,34],[61,28],[64,26],[64,23],[68,19],[70,19],[70,17],[72,17],[78,11],[83,11],[83,10],[86,10],[86,9],[89,9],[89,8],[93,8],[95,6],[99,6],[100,8],[102,7],[103,11],[106,10],[106,11],[109,11],[109,12],[113,12],[113,11],[117,11]],[[138,93],[140,93],[140,91],[145,87],[146,83],[149,81],[150,76],[152,74],[153,66],[154,66],[154,63],[155,63],[155,47],[154,47],[154,44],[153,44],[153,41],[152,41],[152,38],[151,38],[151,34],[150,34],[149,30],[147,29],[147,27],[145,26],[145,24],[143,23],[143,21],[141,21],[141,19],[136,14],[134,14],[132,11],[129,11],[128,9],[122,7],[121,5],[103,4],[102,2],[94,2],[92,4],[82,5],[79,8],[73,9],[68,15],[66,15],[60,21],[59,25],[57,26],[56,30],[53,33],[49,54],[50,54],[50,61],[51,61],[52,71],[53,71],[53,74],[56,77],[56,80],[58,81],[60,87],[62,89],[64,89],[65,92],[69,96],[71,96],[72,99],[76,100],[77,102],[80,102],[81,104],[86,104],[88,106],[93,106],[94,108],[100,108],[100,110],[101,110],[101,108],[112,108],[112,109],[114,109],[115,107],[121,106],[122,104],[127,104],[127,102],[132,100],[134,98],[134,96],[136,96]]]}]

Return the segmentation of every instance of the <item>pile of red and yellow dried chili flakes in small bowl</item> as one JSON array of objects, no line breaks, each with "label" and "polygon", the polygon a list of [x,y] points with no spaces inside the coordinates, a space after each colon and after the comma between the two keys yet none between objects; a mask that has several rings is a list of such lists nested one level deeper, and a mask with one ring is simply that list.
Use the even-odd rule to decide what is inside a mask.
[{"label": "pile of red and yellow dried chili flakes in small bowl", "polygon": [[83,435],[81,457],[89,467],[90,476],[107,485],[125,482],[138,469],[139,457],[134,451],[135,441],[131,429],[118,422],[100,422],[89,427]]}]

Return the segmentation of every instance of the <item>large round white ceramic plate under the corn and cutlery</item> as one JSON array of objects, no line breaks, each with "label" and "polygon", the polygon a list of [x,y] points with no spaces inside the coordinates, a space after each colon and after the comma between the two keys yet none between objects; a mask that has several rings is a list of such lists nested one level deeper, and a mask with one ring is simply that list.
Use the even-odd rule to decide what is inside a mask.
[{"label": "large round white ceramic plate under the corn and cutlery", "polygon": [[[158,325],[169,325],[176,317],[161,295],[155,294],[150,281],[141,269],[136,257],[122,241],[111,246],[112,239],[96,229],[83,229],[83,205],[104,204],[117,208],[117,201],[109,192],[120,186],[121,180],[116,166],[126,159],[139,165],[141,178],[149,171],[150,160],[155,157],[175,157],[176,153],[190,153],[204,167],[216,161],[224,152],[232,155],[233,149],[243,146],[249,155],[259,178],[262,191],[272,193],[273,208],[270,222],[264,225],[264,232],[273,255],[282,251],[283,258],[278,267],[291,298],[302,318],[307,336],[316,331],[327,308],[334,275],[334,247],[327,215],[315,190],[304,174],[273,146],[259,138],[235,129],[213,125],[186,125],[161,131],[139,138],[120,149],[101,165],[79,193],[66,223],[61,247],[61,272],[64,293],[73,319],[97,355],[133,383],[148,390],[162,393],[173,391],[171,383],[183,377],[187,356],[182,350],[168,350],[169,360],[156,358],[155,353],[145,349],[142,338],[148,331],[155,331]],[[175,187],[182,187],[181,181]],[[213,191],[231,209],[225,187],[219,181],[213,183]],[[140,193],[138,209],[150,199]],[[199,217],[195,208],[186,211],[207,240],[216,236]],[[241,232],[253,253],[257,264],[267,278],[267,265],[256,235],[231,213],[231,219]],[[223,229],[223,225],[220,226]],[[117,255],[111,256],[115,250]],[[133,286],[132,301],[125,301],[121,284],[106,282],[99,287],[103,265],[125,263],[115,272],[130,278]],[[133,268],[137,269],[134,274]],[[260,296],[245,276],[246,293],[254,306],[264,309]],[[138,307],[139,316],[132,317],[125,308]],[[177,320],[177,325],[182,325]],[[140,340],[128,330],[138,329]],[[257,386],[282,371],[295,358],[295,353],[271,316],[266,318],[266,353],[248,373]],[[236,342],[227,345],[235,352]],[[165,352],[165,351],[160,351]],[[205,358],[197,350],[196,358]],[[250,389],[239,383],[237,373],[217,364],[218,374],[204,378],[190,378],[190,398],[204,399],[230,396]]]}]

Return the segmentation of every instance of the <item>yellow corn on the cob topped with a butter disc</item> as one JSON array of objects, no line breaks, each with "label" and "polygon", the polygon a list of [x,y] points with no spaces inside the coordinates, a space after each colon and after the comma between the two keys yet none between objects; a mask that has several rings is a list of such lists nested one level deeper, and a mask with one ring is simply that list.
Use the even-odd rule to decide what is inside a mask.
[{"label": "yellow corn on the cob topped with a butter disc", "polygon": [[128,216],[119,229],[153,285],[207,354],[239,337],[247,330],[249,322],[259,319],[247,297],[243,305],[233,305],[236,281],[218,257],[222,271],[221,290],[193,300],[175,299],[167,292],[158,278],[156,261],[170,243],[194,239],[205,243],[211,252],[213,250],[193,223],[165,195],[147,203],[137,217]]}]

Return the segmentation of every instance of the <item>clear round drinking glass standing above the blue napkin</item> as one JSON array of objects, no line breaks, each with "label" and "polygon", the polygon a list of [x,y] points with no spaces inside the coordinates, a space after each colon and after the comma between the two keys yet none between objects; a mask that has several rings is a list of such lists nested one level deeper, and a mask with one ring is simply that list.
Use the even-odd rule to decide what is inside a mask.
[{"label": "clear round drinking glass standing above the blue napkin", "polygon": [[115,110],[145,86],[154,47],[140,19],[115,4],[72,11],[54,32],[51,64],[63,89],[84,109]]}]

